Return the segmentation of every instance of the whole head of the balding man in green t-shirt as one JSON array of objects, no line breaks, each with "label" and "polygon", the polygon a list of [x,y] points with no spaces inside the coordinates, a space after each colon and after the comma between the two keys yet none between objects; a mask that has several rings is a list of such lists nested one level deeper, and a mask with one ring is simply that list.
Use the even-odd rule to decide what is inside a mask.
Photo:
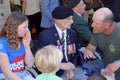
[{"label": "whole head of the balding man in green t-shirt", "polygon": [[94,33],[110,34],[114,29],[114,16],[110,9],[103,7],[98,9],[92,17]]}]

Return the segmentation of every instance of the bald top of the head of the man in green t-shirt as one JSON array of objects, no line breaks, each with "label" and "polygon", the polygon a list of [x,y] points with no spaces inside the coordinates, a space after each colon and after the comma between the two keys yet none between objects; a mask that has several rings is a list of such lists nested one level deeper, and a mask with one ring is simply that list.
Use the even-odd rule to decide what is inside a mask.
[{"label": "bald top of the head of the man in green t-shirt", "polygon": [[104,22],[106,21],[113,22],[114,20],[113,13],[111,12],[109,8],[106,8],[106,7],[102,7],[98,9],[94,13],[93,18],[98,18],[100,21],[104,21]]}]

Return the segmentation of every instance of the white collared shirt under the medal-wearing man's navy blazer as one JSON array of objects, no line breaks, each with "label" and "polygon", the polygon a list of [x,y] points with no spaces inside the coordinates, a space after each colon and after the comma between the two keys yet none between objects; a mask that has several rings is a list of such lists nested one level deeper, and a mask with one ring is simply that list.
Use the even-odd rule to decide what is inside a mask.
[{"label": "white collared shirt under the medal-wearing man's navy blazer", "polygon": [[58,34],[59,34],[59,37],[60,37],[60,39],[62,38],[62,32],[64,32],[65,34],[64,34],[64,39],[65,39],[65,52],[64,52],[64,54],[65,54],[65,59],[66,59],[66,61],[68,61],[68,56],[67,56],[67,40],[66,40],[66,37],[67,37],[67,30],[64,30],[64,31],[62,31],[62,30],[60,30],[58,27],[57,27],[57,25],[55,24],[55,28],[57,29],[57,32],[58,32]]}]

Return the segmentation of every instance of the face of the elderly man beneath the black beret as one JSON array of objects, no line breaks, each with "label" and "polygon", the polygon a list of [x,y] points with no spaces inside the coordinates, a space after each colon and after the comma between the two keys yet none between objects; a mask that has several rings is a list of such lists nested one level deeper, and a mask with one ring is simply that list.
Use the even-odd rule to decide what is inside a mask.
[{"label": "face of the elderly man beneath the black beret", "polygon": [[70,29],[73,23],[73,16],[69,16],[66,19],[56,20],[55,23],[61,30]]}]

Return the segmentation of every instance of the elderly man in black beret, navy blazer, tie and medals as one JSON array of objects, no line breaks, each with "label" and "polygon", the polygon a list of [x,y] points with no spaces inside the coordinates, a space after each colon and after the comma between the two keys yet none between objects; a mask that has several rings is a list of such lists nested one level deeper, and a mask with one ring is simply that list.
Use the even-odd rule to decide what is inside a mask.
[{"label": "elderly man in black beret, navy blazer, tie and medals", "polygon": [[[40,33],[40,47],[53,44],[63,51],[63,60],[57,75],[63,80],[86,80],[81,68],[76,68],[77,34],[70,29],[73,23],[73,11],[67,6],[54,9],[52,16],[55,24],[50,29]],[[78,75],[79,74],[79,75]]]}]

